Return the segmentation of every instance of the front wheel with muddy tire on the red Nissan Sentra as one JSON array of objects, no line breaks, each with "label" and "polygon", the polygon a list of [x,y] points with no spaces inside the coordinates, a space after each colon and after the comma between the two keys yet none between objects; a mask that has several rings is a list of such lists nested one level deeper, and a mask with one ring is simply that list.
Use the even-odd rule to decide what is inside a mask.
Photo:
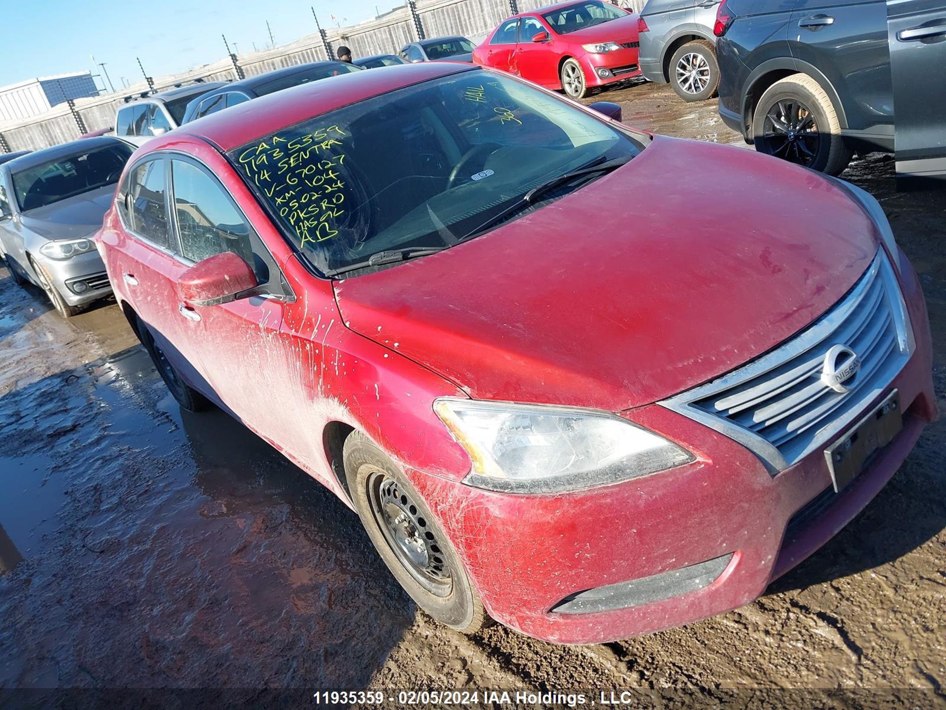
[{"label": "front wheel with muddy tire on the red Nissan Sentra", "polygon": [[394,461],[358,431],[342,457],[361,524],[394,578],[437,621],[463,633],[482,629],[488,617],[453,543]]}]

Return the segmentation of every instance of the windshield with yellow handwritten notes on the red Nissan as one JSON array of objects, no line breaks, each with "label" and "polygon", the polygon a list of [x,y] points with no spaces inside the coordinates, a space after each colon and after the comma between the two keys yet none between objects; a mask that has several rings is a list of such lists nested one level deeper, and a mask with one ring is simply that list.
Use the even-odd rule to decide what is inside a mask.
[{"label": "windshield with yellow handwritten notes on the red Nissan", "polygon": [[564,100],[476,70],[319,115],[228,155],[289,239],[331,274],[379,252],[476,236],[534,187],[641,148]]}]

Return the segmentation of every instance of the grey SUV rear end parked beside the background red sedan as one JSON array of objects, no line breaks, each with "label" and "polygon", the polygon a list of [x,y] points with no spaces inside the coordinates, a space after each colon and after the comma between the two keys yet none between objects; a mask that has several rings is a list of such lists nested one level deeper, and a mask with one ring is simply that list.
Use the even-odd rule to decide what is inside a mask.
[{"label": "grey SUV rear end parked beside the background red sedan", "polygon": [[640,10],[640,72],[674,87],[685,101],[716,95],[719,65],[712,33],[720,0],[648,0]]}]

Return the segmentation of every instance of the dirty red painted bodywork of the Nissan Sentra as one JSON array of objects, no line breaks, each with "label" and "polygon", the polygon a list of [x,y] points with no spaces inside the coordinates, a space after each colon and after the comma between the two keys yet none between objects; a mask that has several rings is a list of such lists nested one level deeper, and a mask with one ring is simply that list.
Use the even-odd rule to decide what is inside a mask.
[{"label": "dirty red painted bodywork of the Nissan Sentra", "polygon": [[[655,402],[815,321],[880,247],[872,223],[807,170],[657,138],[625,169],[480,239],[371,275],[312,275],[220,150],[453,71],[365,72],[318,87],[320,109],[311,89],[289,90],[252,102],[252,111],[239,106],[150,142],[131,164],[154,151],[201,161],[240,205],[296,297],[241,299],[197,307],[201,320],[182,317],[188,304],[179,287],[189,264],[132,237],[114,207],[98,240],[117,299],[161,338],[188,382],[348,505],[326,427],[343,422],[374,439],[424,496],[487,611],[504,624],[589,643],[745,604],[865,506],[936,416],[916,276],[907,266],[900,277],[916,337],[893,382],[902,433],[829,515],[783,547],[789,518],[830,485],[823,453],[772,477],[742,445]],[[564,494],[471,488],[461,482],[469,457],[432,409],[444,396],[618,412],[695,460]],[[617,612],[549,612],[566,595],[729,553],[726,572],[698,592]]]}]

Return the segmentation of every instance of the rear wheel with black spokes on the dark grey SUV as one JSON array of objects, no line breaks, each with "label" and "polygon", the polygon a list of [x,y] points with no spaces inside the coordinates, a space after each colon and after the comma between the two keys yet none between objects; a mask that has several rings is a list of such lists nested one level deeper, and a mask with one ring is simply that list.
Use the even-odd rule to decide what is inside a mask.
[{"label": "rear wheel with black spokes on the dark grey SUV", "polygon": [[829,175],[847,168],[853,154],[831,98],[804,74],[765,90],[752,116],[752,136],[756,151]]}]

